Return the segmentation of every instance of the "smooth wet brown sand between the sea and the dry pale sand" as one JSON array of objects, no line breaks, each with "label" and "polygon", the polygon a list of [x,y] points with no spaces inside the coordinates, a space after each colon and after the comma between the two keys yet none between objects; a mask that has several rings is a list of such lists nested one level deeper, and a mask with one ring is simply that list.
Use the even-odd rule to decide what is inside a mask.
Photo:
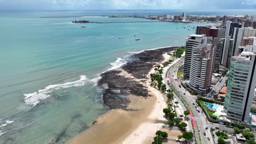
[{"label": "smooth wet brown sand between the sea and the dry pale sand", "polygon": [[139,124],[154,122],[154,119],[148,118],[153,106],[156,104],[154,96],[147,99],[130,96],[129,99],[131,100],[129,107],[138,111],[110,110],[97,120],[96,125],[93,125],[68,143],[121,143]]}]

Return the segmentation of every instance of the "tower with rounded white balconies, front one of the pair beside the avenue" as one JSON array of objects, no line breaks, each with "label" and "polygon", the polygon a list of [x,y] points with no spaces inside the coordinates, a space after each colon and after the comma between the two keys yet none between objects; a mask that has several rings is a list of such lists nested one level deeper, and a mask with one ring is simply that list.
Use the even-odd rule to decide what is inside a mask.
[{"label": "tower with rounded white balconies, front one of the pair beside the avenue", "polygon": [[189,86],[197,92],[206,94],[211,89],[212,74],[216,57],[213,44],[193,46]]}]

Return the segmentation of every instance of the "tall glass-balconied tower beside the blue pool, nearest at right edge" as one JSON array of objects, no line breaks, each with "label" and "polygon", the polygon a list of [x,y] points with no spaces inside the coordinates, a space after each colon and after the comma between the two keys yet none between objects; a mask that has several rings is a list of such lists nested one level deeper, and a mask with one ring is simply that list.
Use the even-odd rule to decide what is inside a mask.
[{"label": "tall glass-balconied tower beside the blue pool, nearest at right edge", "polygon": [[224,102],[228,118],[248,123],[256,84],[256,59],[252,52],[233,56]]}]

